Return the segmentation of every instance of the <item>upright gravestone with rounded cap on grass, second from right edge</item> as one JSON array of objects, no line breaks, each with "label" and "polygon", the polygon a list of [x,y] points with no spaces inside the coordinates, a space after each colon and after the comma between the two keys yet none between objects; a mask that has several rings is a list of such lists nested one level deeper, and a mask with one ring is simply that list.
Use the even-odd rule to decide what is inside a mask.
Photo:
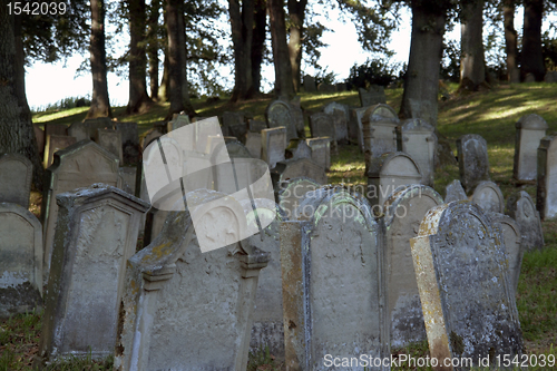
[{"label": "upright gravestone with rounded cap on grass, second from right edge", "polygon": [[512,177],[519,182],[536,180],[538,147],[546,136],[547,123],[540,116],[530,114],[516,123],[515,162]]}]

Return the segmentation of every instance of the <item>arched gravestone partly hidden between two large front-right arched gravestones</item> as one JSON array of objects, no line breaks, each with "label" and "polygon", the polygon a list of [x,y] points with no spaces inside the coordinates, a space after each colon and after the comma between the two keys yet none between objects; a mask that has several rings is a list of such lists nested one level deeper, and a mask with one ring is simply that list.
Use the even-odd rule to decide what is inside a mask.
[{"label": "arched gravestone partly hidden between two large front-right arched gravestones", "polygon": [[424,185],[400,186],[384,203],[391,346],[426,340],[409,241],[418,235],[423,216],[441,204],[441,195]]}]

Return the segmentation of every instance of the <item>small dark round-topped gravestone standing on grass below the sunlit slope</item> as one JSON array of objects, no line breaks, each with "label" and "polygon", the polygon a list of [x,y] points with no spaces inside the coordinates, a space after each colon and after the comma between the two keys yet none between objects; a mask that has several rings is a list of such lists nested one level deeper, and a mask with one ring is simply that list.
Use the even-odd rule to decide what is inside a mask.
[{"label": "small dark round-topped gravestone standing on grass below the sunlit slope", "polygon": [[470,192],[481,180],[489,180],[487,141],[477,134],[467,134],[457,139],[457,158],[460,183]]}]

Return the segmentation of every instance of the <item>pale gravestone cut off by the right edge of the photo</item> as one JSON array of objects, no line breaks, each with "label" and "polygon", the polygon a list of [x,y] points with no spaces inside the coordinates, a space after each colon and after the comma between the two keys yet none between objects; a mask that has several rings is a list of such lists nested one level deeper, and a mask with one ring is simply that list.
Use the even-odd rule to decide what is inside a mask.
[{"label": "pale gravestone cut off by the right edge of the photo", "polygon": [[541,219],[557,216],[557,135],[548,135],[538,148],[536,208]]}]

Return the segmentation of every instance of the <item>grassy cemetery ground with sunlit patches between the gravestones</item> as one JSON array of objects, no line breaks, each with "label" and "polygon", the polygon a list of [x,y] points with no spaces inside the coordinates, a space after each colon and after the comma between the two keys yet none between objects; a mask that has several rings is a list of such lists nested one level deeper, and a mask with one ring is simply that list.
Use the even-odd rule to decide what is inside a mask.
[{"label": "grassy cemetery ground with sunlit patches between the gravestones", "polygon": [[[557,109],[555,97],[557,84],[521,84],[499,85],[489,91],[457,96],[456,86],[450,85],[450,98],[439,105],[438,130],[443,140],[450,143],[456,154],[456,139],[463,134],[479,134],[488,143],[491,179],[501,188],[507,198],[518,187],[512,180],[512,160],[515,152],[515,123],[527,114],[541,116],[549,125],[548,134],[557,131]],[[397,111],[402,98],[402,89],[385,89],[387,104]],[[227,98],[207,102],[193,99],[198,116],[209,117],[224,111],[246,110],[255,119],[264,119],[265,107],[272,100],[261,98],[247,102],[229,104]],[[338,94],[301,94],[301,106],[310,113],[317,113],[326,104],[338,101],[350,106],[360,106],[358,92]],[[138,124],[139,134],[145,134],[154,123],[163,121],[168,106],[155,104],[149,113],[143,115],[125,115],[125,107],[113,109],[118,121]],[[61,111],[36,114],[33,121],[41,126],[45,123],[71,124],[85,118],[88,107],[72,108]],[[306,134],[309,126],[306,120]],[[341,146],[339,154],[331,154],[329,182],[344,183],[351,187],[365,184],[364,158],[358,146]],[[459,178],[458,165],[447,165],[436,169],[434,189],[444,195],[444,187]],[[520,189],[536,197],[535,184],[522,185]],[[40,194],[31,194],[29,209],[40,214]],[[520,281],[517,293],[517,307],[520,326],[525,338],[526,354],[557,354],[557,221],[543,223],[545,248],[540,252],[526,253],[522,261]],[[38,352],[41,313],[13,316],[0,323],[0,371],[31,370],[33,355]],[[403,349],[391,349],[393,357],[408,354],[414,358],[429,354],[427,342],[416,343]],[[56,370],[109,370],[111,360],[92,362],[74,360],[52,367]],[[535,368],[530,368],[535,369]],[[541,368],[539,368],[543,370]],[[251,354],[248,370],[281,370],[272,354],[261,350]],[[393,370],[428,370],[401,365]]]}]

